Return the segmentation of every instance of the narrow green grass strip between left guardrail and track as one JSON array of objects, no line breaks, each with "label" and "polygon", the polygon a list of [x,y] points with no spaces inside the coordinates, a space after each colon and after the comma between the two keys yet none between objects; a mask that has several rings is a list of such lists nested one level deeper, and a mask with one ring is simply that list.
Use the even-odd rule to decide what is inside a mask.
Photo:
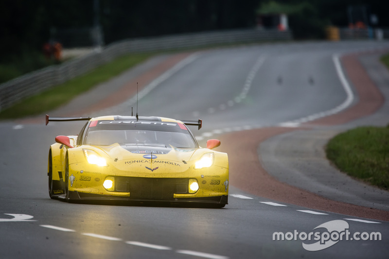
[{"label": "narrow green grass strip between left guardrail and track", "polygon": [[42,114],[71,101],[77,95],[88,89],[119,75],[152,56],[152,53],[125,55],[112,62],[104,64],[87,74],[55,86],[38,95],[23,99],[13,106],[1,110],[0,119],[16,119]]}]

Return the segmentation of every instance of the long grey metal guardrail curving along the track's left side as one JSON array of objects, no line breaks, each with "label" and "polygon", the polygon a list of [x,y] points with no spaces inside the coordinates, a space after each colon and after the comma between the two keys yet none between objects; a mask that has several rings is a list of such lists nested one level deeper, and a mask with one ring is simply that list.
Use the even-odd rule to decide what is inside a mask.
[{"label": "long grey metal guardrail curving along the track's left side", "polygon": [[115,42],[100,51],[91,52],[60,65],[36,70],[1,84],[0,110],[18,103],[26,97],[62,84],[127,53],[290,39],[292,39],[290,31],[245,29],[137,38]]}]

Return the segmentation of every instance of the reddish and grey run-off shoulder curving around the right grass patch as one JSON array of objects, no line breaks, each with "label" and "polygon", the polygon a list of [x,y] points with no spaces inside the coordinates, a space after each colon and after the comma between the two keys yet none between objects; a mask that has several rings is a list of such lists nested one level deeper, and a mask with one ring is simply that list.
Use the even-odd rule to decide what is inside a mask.
[{"label": "reddish and grey run-off shoulder curving around the right grass patch", "polygon": [[385,119],[388,123],[384,97],[389,98],[385,84],[389,73],[382,67],[377,73],[378,56],[348,55],[342,59],[358,94],[359,102],[351,108],[300,128],[262,128],[223,136],[228,143],[223,151],[229,154],[230,182],[276,201],[389,221],[389,192],[339,172],[324,153],[327,141],[341,131],[366,123],[382,124]]}]

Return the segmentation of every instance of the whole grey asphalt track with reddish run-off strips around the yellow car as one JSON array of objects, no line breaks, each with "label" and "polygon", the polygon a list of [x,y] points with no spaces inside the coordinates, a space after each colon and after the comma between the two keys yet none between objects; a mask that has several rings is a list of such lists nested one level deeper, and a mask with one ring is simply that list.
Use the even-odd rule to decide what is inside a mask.
[{"label": "whole grey asphalt track with reddish run-off strips around the yellow car", "polygon": [[[193,129],[199,143],[222,139],[231,185],[223,209],[51,200],[48,147],[83,123],[1,122],[0,258],[387,258],[388,192],[345,188],[338,179],[347,177],[321,150],[337,132],[389,122],[387,70],[376,67],[377,53],[388,48],[386,41],[315,42],[161,55],[50,112],[135,113],[138,82],[140,115],[201,118],[203,129]],[[358,90],[361,79],[353,83],[357,68],[342,59],[351,53],[364,54],[351,63],[381,94],[359,109],[367,93]],[[380,232],[382,240],[303,247],[313,241],[299,234],[335,220],[351,233]],[[299,234],[273,241],[274,232]]]}]

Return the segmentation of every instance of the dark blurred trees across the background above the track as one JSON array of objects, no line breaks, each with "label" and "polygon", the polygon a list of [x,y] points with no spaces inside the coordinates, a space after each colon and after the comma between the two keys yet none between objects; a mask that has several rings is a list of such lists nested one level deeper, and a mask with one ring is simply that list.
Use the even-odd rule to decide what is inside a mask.
[{"label": "dark blurred trees across the background above the track", "polygon": [[39,68],[37,54],[56,30],[93,27],[95,1],[105,44],[134,37],[253,28],[261,8],[287,13],[298,39],[323,37],[326,25],[347,26],[349,5],[366,4],[378,16],[378,26],[389,27],[389,1],[382,0],[1,0],[0,66],[7,70],[3,74],[24,73],[36,63],[35,69]]}]

